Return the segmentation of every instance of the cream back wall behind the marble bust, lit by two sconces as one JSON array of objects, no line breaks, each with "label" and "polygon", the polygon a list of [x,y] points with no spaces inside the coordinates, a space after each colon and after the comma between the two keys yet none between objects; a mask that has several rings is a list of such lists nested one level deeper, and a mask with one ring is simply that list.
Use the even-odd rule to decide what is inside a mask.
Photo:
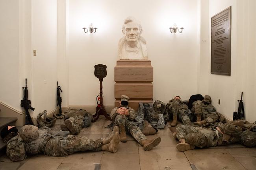
[{"label": "cream back wall behind the marble bust, lit by two sconces", "polygon": [[[175,95],[188,99],[196,93],[199,55],[197,0],[72,0],[69,1],[70,105],[96,105],[99,81],[95,64],[106,64],[104,105],[114,105],[114,67],[122,24],[127,16],[141,21],[148,59],[154,67],[154,100],[167,102]],[[96,33],[83,32],[93,22]],[[183,33],[170,33],[176,23]]]}]

